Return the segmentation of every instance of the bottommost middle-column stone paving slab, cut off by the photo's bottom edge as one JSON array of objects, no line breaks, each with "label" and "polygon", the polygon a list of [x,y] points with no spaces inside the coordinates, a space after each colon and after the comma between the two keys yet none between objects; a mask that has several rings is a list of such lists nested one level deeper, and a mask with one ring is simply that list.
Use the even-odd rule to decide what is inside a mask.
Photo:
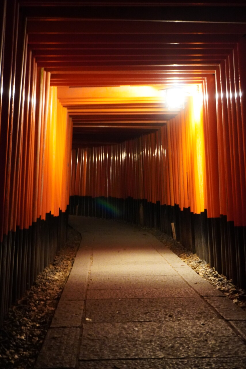
[{"label": "bottommost middle-column stone paving slab, cut off by the photo's bottom edge", "polygon": [[244,358],[82,361],[79,369],[245,369]]}]

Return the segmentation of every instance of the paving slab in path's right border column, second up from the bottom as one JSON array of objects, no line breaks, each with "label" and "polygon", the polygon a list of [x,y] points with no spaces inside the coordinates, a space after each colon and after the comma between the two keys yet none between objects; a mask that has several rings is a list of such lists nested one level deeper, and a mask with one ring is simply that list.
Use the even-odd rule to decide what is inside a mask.
[{"label": "paving slab in path's right border column, second up from the bottom", "polygon": [[224,297],[206,297],[208,303],[218,311],[226,320],[245,320],[246,311],[236,304],[233,304],[226,296]]}]

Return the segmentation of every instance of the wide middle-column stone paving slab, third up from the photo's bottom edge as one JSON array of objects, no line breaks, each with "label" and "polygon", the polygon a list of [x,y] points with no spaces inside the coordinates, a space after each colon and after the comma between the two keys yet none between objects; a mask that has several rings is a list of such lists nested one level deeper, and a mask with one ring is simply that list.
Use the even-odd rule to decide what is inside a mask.
[{"label": "wide middle-column stone paving slab, third up from the photo's bottom edge", "polygon": [[91,323],[83,325],[82,340],[113,339],[123,337],[140,338],[175,338],[175,337],[207,337],[235,336],[236,333],[223,319],[186,320],[182,321],[151,321],[127,323]]}]

